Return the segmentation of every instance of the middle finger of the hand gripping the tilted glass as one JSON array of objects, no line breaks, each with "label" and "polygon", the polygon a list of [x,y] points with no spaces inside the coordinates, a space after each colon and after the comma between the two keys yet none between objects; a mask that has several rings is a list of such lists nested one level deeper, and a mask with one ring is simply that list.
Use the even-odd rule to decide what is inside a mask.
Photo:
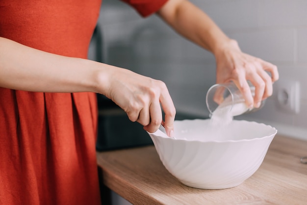
[{"label": "middle finger of the hand gripping the tilted glass", "polygon": [[260,107],[262,101],[265,83],[257,73],[250,74],[247,79],[249,79],[251,83],[255,86],[254,106],[258,108]]}]

